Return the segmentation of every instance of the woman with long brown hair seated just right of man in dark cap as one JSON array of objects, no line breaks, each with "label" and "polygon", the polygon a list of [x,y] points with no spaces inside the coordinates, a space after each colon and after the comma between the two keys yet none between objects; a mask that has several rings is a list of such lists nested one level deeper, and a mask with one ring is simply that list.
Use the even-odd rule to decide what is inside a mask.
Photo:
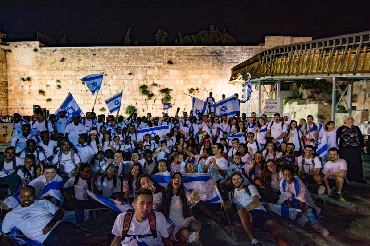
[{"label": "woman with long brown hair seated just right of man in dark cap", "polygon": [[140,163],[135,162],[131,165],[130,169],[123,179],[122,191],[125,193],[125,198],[127,202],[132,202],[135,197],[136,181],[138,176],[142,174],[142,166]]}]

